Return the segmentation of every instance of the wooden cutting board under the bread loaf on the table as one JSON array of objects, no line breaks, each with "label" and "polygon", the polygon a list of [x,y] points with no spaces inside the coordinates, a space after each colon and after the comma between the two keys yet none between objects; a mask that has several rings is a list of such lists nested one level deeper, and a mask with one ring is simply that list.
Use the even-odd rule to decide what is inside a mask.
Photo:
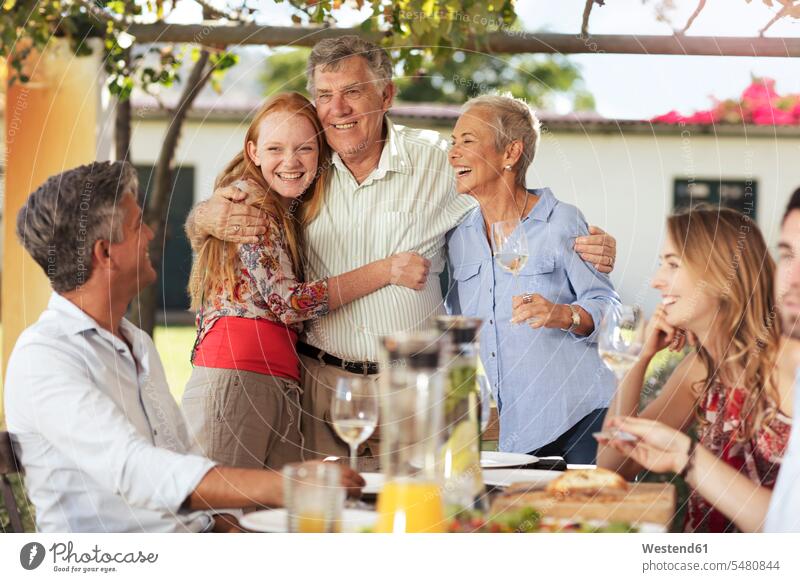
[{"label": "wooden cutting board under the bread loaf on the table", "polygon": [[534,490],[533,484],[515,483],[494,499],[492,513],[534,507],[548,517],[655,523],[669,529],[675,514],[675,486],[671,483],[629,485],[627,492],[567,496]]}]

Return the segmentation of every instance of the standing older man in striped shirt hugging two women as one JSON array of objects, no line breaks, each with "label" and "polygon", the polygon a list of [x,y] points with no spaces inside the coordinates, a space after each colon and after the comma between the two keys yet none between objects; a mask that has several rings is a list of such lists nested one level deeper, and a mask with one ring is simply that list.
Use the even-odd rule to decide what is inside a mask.
[{"label": "standing older man in striped shirt hugging two women", "polygon": [[[385,287],[307,327],[298,352],[308,457],[347,453],[330,421],[338,378],[377,380],[380,338],[424,327],[443,313],[445,234],[476,205],[456,193],[442,136],[386,116],[397,91],[392,69],[386,51],[356,36],[320,41],[308,61],[308,90],[335,153],[324,206],[306,232],[306,277],[331,277],[397,252],[431,261],[422,290]],[[263,219],[242,201],[247,194],[231,188],[198,205],[187,222],[193,245],[209,235],[257,242]],[[584,238],[577,241],[583,258],[610,270],[614,239],[599,229]],[[374,441],[363,448],[377,455]]]}]

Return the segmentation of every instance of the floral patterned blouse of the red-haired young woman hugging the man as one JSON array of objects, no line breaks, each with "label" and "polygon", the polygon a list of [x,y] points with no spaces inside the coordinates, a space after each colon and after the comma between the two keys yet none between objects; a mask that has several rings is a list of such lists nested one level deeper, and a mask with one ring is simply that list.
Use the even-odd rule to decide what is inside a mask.
[{"label": "floral patterned blouse of the red-haired young woman hugging the man", "polygon": [[195,346],[220,317],[266,319],[299,333],[303,321],[328,313],[328,280],[297,280],[283,229],[274,217],[269,217],[262,242],[240,244],[238,251],[233,296],[220,285],[204,298],[197,314]]}]

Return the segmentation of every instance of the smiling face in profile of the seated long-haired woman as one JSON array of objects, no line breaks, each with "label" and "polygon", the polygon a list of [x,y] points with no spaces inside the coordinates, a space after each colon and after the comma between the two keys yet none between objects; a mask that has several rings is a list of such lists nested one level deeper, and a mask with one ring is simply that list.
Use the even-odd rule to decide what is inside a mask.
[{"label": "smiling face in profile of the seated long-haired woman", "polygon": [[719,298],[689,269],[670,236],[664,241],[660,260],[652,287],[661,291],[667,323],[693,332],[703,331],[702,326],[713,320],[719,309]]}]

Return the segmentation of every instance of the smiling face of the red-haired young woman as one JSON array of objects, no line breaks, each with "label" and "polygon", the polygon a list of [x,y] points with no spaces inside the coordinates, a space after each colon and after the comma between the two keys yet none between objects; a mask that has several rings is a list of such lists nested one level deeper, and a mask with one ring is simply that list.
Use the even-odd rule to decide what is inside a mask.
[{"label": "smiling face of the red-haired young woman", "polygon": [[247,143],[247,153],[269,187],[284,198],[302,195],[314,181],[319,163],[314,125],[286,111],[261,120],[258,141]]}]

